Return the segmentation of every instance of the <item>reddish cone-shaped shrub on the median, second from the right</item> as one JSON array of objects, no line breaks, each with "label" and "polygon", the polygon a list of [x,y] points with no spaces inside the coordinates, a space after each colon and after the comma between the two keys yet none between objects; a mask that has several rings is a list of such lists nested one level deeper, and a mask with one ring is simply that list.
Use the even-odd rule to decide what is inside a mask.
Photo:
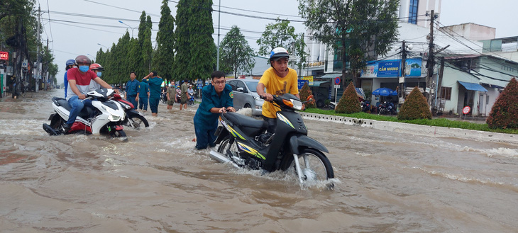
[{"label": "reddish cone-shaped shrub on the median, second from the right", "polygon": [[397,113],[397,120],[431,119],[431,111],[419,89],[414,87]]}]

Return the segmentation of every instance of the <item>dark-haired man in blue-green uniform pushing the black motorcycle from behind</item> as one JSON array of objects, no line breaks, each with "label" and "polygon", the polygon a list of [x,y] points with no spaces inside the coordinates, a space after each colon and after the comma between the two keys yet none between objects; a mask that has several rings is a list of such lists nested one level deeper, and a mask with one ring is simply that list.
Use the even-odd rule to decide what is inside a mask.
[{"label": "dark-haired man in blue-green uniform pushing the black motorcycle from behind", "polygon": [[225,74],[215,71],[211,74],[211,84],[202,89],[202,103],[194,115],[194,132],[196,133],[196,149],[205,149],[207,145],[214,147],[219,113],[235,112],[233,108],[232,87],[225,84]]}]

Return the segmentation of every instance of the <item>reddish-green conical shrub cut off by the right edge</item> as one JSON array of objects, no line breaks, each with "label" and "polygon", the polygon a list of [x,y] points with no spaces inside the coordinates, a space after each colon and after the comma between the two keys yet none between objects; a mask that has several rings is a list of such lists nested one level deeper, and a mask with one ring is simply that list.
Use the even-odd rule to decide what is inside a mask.
[{"label": "reddish-green conical shrub cut off by the right edge", "polygon": [[516,79],[512,78],[504,91],[500,93],[491,108],[486,123],[492,129],[518,128],[518,82]]}]

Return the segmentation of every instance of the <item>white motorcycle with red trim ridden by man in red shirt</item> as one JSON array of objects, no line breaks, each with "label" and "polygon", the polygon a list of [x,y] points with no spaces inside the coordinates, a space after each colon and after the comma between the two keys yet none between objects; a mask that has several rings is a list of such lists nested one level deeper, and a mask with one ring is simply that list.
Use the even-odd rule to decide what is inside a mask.
[{"label": "white motorcycle with red trim ridden by man in red shirt", "polygon": [[[113,89],[89,91],[86,96],[87,99],[92,99],[94,108],[84,106],[77,115],[75,123],[65,134],[108,133],[111,137],[123,137],[124,140],[128,140],[122,124],[126,114],[119,102],[109,99],[113,94]],[[63,132],[60,129],[67,122],[71,108],[65,98],[53,97],[52,101],[56,113],[51,114],[48,118],[50,125],[43,124],[43,130],[49,135],[61,135]]]}]

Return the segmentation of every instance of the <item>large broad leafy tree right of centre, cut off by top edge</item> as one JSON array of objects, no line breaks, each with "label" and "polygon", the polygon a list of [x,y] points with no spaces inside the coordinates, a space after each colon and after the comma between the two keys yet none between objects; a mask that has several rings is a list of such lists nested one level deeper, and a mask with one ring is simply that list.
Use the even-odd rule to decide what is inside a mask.
[{"label": "large broad leafy tree right of centre, cut off by top edge", "polygon": [[369,59],[368,52],[385,55],[397,40],[399,0],[299,0],[299,13],[315,40],[334,49],[347,63],[358,84],[358,72]]}]

